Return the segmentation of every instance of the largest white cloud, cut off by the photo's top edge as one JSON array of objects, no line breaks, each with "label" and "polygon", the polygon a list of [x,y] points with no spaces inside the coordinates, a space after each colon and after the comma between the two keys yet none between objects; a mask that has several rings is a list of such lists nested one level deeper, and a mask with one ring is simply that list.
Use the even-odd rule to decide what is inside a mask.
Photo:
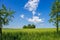
[{"label": "largest white cloud, cut off by the photo's top edge", "polygon": [[39,0],[29,0],[24,8],[25,9],[28,9],[29,11],[36,11],[37,7],[38,7],[38,3],[39,3]]}]

